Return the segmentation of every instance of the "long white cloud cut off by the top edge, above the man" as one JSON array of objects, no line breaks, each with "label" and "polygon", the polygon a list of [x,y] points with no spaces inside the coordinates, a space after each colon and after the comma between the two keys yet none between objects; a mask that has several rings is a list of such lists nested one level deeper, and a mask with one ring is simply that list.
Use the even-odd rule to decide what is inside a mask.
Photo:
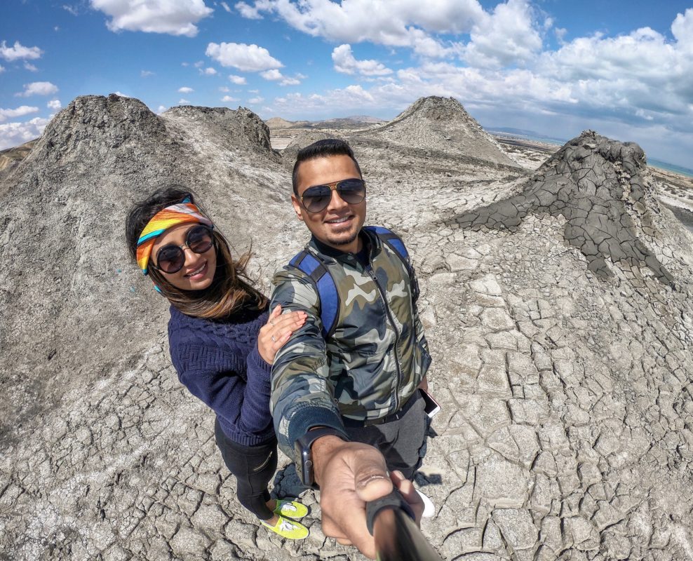
[{"label": "long white cloud cut off by the top edge, above the man", "polygon": [[329,41],[370,41],[387,46],[409,47],[424,56],[447,56],[452,45],[437,34],[463,34],[485,14],[478,0],[372,0],[290,2],[287,0],[241,1],[236,9],[244,18],[259,19],[276,14],[289,25]]}]

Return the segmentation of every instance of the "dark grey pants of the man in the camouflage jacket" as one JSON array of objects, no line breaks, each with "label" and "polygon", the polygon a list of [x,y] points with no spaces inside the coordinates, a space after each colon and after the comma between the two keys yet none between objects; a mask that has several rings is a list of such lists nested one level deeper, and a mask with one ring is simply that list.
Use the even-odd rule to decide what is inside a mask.
[{"label": "dark grey pants of the man in the camouflage jacket", "polygon": [[354,426],[345,420],[351,440],[375,446],[385,457],[390,471],[399,470],[405,478],[414,479],[425,453],[428,417],[419,391],[409,399],[391,421],[379,425]]}]

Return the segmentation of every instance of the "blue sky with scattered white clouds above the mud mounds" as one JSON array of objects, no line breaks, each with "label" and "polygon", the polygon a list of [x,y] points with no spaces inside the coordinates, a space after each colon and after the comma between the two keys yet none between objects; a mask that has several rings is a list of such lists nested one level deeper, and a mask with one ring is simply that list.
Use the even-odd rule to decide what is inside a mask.
[{"label": "blue sky with scattered white clouds above the mud mounds", "polygon": [[392,119],[456,97],[486,127],[591,128],[693,168],[693,0],[6,0],[0,149],[78,95],[152,111]]}]

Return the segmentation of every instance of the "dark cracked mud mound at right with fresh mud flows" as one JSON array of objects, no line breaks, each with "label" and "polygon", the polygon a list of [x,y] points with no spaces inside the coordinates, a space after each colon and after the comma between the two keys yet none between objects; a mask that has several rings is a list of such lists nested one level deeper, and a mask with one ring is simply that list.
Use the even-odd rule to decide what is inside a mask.
[{"label": "dark cracked mud mound at right with fresh mud flows", "polygon": [[672,260],[664,241],[668,224],[638,144],[586,131],[544,163],[517,196],[445,224],[517,231],[527,215],[541,212],[565,219],[565,241],[585,255],[588,268],[599,276],[612,276],[612,265],[618,263],[636,284],[642,284],[645,267],[662,283],[673,283],[664,266]]}]

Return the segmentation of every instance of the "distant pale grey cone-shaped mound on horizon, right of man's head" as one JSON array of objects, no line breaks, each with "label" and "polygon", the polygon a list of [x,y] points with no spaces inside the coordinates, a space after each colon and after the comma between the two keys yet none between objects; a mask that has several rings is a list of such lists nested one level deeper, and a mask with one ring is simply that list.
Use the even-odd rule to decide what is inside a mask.
[{"label": "distant pale grey cone-shaped mound on horizon, right of man's head", "polygon": [[414,149],[518,165],[453,97],[421,97],[392,121],[365,135]]}]

